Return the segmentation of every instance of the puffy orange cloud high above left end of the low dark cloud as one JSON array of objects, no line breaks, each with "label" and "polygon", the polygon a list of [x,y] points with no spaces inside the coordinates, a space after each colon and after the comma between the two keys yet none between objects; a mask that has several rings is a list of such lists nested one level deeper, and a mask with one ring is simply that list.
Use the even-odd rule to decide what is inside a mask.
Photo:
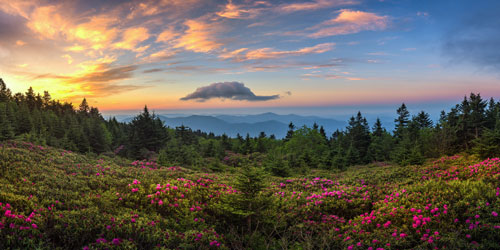
[{"label": "puffy orange cloud high above left end of the low dark cloud", "polygon": [[184,25],[188,29],[176,40],[174,48],[208,53],[222,46],[222,43],[215,38],[215,34],[220,29],[216,24],[208,24],[200,20],[187,20]]}]

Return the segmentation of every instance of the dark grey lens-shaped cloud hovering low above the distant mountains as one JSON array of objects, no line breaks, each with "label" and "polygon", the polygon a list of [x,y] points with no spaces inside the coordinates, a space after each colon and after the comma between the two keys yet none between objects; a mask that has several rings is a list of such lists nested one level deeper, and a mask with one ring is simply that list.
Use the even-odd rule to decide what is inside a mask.
[{"label": "dark grey lens-shaped cloud hovering low above the distant mountains", "polygon": [[240,82],[212,83],[205,87],[197,88],[193,93],[182,97],[180,100],[197,100],[204,102],[212,98],[231,99],[237,101],[269,101],[279,99],[279,95],[258,96]]}]

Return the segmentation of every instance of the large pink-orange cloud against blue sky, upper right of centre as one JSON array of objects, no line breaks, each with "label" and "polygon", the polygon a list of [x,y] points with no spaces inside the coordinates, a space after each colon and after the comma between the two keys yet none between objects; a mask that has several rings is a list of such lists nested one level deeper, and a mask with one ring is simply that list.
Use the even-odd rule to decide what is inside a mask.
[{"label": "large pink-orange cloud against blue sky, upper right of centre", "polygon": [[354,34],[361,31],[384,30],[389,25],[388,16],[379,16],[375,13],[343,9],[338,16],[312,27],[316,30],[309,37],[319,38],[336,35]]}]

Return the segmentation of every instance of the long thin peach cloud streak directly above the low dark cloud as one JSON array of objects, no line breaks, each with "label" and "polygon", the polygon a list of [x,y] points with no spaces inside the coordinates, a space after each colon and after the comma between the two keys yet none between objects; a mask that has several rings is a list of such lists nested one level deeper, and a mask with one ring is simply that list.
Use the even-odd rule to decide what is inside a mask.
[{"label": "long thin peach cloud streak directly above the low dark cloud", "polygon": [[335,43],[321,43],[312,47],[305,47],[298,50],[281,50],[276,51],[272,48],[261,48],[249,50],[241,48],[230,52],[225,52],[219,55],[219,58],[232,59],[233,61],[241,62],[247,60],[263,60],[275,59],[285,56],[300,56],[306,54],[321,54],[330,51],[335,46]]}]

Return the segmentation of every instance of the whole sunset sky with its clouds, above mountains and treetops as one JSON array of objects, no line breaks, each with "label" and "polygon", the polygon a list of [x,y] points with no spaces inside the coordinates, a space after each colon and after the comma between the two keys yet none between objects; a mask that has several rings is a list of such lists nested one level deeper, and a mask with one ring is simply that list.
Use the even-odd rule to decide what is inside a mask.
[{"label": "whole sunset sky with its clouds, above mountains and treetops", "polygon": [[493,0],[0,0],[0,78],[104,112],[447,109],[471,92],[500,97],[499,10]]}]

